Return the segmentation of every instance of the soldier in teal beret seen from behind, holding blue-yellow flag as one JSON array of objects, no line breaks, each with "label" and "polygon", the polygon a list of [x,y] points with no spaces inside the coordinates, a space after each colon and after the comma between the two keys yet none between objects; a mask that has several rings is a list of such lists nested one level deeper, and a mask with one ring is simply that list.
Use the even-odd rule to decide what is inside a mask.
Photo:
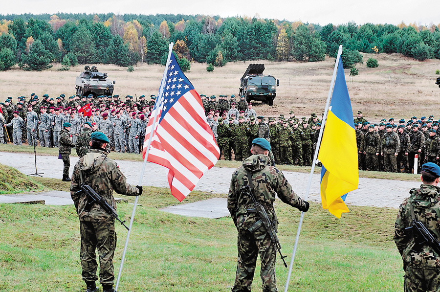
[{"label": "soldier in teal beret seen from behind, holding blue-yellow flag", "polygon": [[[243,185],[250,185],[256,199],[264,206],[267,215],[275,230],[277,230],[277,217],[273,203],[275,196],[282,202],[307,212],[309,204],[299,198],[292,190],[292,186],[283,173],[270,166],[267,155],[270,143],[257,138],[252,143],[252,156],[244,159],[243,164],[232,175],[228,195],[228,210],[231,213],[234,225],[237,227],[237,272],[233,292],[250,292],[254,277],[257,257],[260,254],[263,291],[277,291],[275,278],[276,246],[267,234],[264,226],[257,227],[252,232],[251,226],[260,220],[258,214],[251,211],[254,208],[252,199],[241,192]],[[251,178],[251,182],[248,177]]]}]

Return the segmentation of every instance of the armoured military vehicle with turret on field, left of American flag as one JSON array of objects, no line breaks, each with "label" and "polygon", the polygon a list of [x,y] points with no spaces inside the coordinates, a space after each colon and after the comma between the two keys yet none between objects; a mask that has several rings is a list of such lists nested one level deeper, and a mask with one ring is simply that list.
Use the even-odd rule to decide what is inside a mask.
[{"label": "armoured military vehicle with turret on field, left of American flag", "polygon": [[84,67],[84,72],[82,72],[78,77],[76,77],[76,94],[80,95],[113,95],[113,84],[116,82],[110,81],[107,77],[107,73],[102,73],[98,71],[98,68],[92,66]]}]

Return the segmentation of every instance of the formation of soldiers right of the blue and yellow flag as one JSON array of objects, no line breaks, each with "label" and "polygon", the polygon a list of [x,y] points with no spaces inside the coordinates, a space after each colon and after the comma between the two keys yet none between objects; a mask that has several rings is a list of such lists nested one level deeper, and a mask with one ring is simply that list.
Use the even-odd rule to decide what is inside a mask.
[{"label": "formation of soldiers right of the blue and yellow flag", "polygon": [[[354,119],[359,169],[413,173],[426,162],[440,164],[439,121],[434,116],[413,116],[410,120],[382,119],[368,122],[362,112]],[[417,165],[415,165],[417,158]]]}]

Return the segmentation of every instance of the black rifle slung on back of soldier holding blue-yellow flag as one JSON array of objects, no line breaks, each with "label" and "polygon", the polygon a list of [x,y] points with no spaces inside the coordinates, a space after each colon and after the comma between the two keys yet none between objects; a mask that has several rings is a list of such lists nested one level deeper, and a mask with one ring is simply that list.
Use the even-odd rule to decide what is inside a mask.
[{"label": "black rifle slung on back of soldier holding blue-yellow flag", "polygon": [[253,232],[254,230],[258,229],[261,225],[264,226],[264,229],[266,229],[267,233],[269,234],[270,240],[272,241],[272,243],[275,243],[275,246],[278,250],[278,252],[280,253],[281,256],[281,260],[284,263],[284,266],[287,268],[287,264],[286,261],[284,260],[284,258],[286,258],[287,256],[283,256],[283,254],[281,253],[281,244],[280,241],[278,240],[278,236],[277,233],[275,232],[275,227],[273,226],[273,223],[270,222],[269,216],[267,216],[266,210],[264,209],[264,206],[257,201],[254,192],[252,191],[252,189],[250,188],[249,185],[244,185],[242,186],[242,188],[240,189],[241,192],[243,192],[244,194],[248,195],[249,197],[252,198],[252,202],[254,202],[254,208],[253,209],[247,209],[248,212],[255,212],[258,214],[258,217],[260,217],[260,220],[257,221],[256,224],[252,225],[248,230],[250,232]]}]

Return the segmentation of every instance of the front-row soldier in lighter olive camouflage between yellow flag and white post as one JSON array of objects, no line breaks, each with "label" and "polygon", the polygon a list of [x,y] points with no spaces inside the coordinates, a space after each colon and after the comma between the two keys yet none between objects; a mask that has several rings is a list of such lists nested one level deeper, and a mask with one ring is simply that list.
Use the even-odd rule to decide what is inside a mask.
[{"label": "front-row soldier in lighter olive camouflage between yellow flag and white post", "polygon": [[381,155],[386,172],[397,172],[396,156],[400,151],[399,136],[393,132],[393,126],[387,125],[387,133],[383,135]]}]

